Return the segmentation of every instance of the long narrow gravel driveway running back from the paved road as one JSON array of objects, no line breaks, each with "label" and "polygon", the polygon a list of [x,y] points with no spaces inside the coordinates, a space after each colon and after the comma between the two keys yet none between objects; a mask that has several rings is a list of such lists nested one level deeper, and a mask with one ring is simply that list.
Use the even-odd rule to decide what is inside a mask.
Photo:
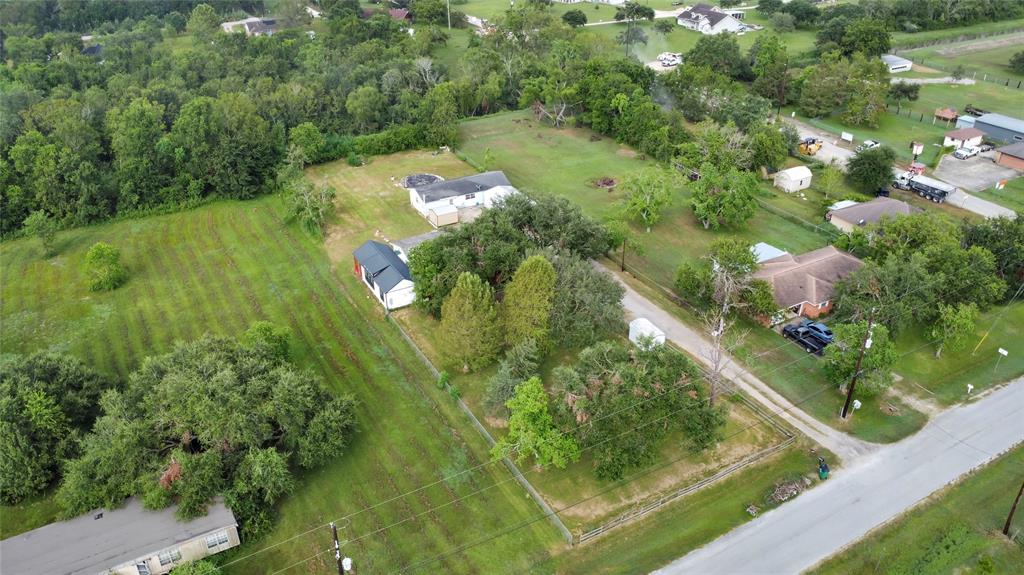
[{"label": "long narrow gravel driveway running back from the paved road", "polygon": [[[594,265],[600,267],[600,264],[595,263]],[[617,269],[607,269],[607,271],[615,275],[616,278],[618,277],[616,275]],[[621,279],[620,282],[622,282]],[[623,283],[623,288],[626,289],[623,307],[626,308],[629,319],[646,317],[665,331],[665,337],[669,341],[686,350],[701,363],[708,364],[707,352],[711,343],[703,334],[683,323],[676,316],[641,296],[626,283]],[[778,342],[779,345],[786,345],[785,340],[781,337]],[[867,443],[839,432],[807,414],[729,356],[725,357],[725,367],[722,369],[722,373],[752,399],[763,405],[765,409],[777,413],[777,417],[784,419],[844,459],[863,455],[879,447],[873,443]]]}]

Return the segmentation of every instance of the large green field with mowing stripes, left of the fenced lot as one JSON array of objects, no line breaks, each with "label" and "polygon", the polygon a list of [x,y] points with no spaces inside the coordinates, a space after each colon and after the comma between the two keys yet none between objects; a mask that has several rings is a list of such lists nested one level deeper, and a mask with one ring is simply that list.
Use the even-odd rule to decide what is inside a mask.
[{"label": "large green field with mowing stripes, left of the fenced lot", "polygon": [[[377,214],[345,206],[339,212],[339,225],[358,235],[353,242],[373,234]],[[331,389],[358,398],[361,431],[343,457],[301,478],[269,535],[220,557],[240,560],[281,543],[233,563],[230,573],[272,573],[324,551],[331,541],[327,527],[289,539],[349,514],[355,515],[339,531],[353,541],[345,552],[362,573],[415,565],[540,514],[514,482],[490,487],[509,477],[500,466],[439,481],[486,461],[484,442],[433,388],[349,267],[335,267],[324,242],[283,225],[281,213],[278,197],[264,197],[75,229],[58,234],[58,255],[49,260],[36,241],[4,242],[0,347],[5,353],[66,351],[124,377],[176,340],[204,331],[236,337],[257,319],[290,327],[296,361]],[[92,294],[82,263],[100,240],[122,250],[131,277],[113,293]],[[49,521],[55,511],[47,500],[5,508],[5,535]],[[24,529],[11,525],[18,520],[27,522]],[[500,565],[522,572],[557,542],[555,530],[540,521],[443,556],[430,570],[484,573]],[[322,552],[294,572],[333,569]]]}]

